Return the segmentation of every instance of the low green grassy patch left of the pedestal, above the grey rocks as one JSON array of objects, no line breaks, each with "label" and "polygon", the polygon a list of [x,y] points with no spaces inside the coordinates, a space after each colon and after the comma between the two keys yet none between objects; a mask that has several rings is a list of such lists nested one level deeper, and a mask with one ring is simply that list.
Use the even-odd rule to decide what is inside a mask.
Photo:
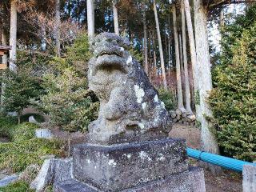
[{"label": "low green grassy patch left of the pedestal, above the grey rocks", "polygon": [[26,169],[26,166],[42,165],[44,160],[40,157],[44,155],[64,156],[62,142],[54,139],[35,138],[35,130],[38,129],[38,125],[30,122],[15,125],[9,118],[1,119],[6,124],[1,122],[0,133],[10,138],[11,142],[0,143],[0,170],[10,169],[13,172],[21,172]]}]

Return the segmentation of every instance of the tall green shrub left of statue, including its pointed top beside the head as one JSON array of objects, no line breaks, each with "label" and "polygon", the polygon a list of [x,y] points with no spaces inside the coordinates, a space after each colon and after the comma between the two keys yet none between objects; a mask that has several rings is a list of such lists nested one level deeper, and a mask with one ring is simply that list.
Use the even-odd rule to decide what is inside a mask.
[{"label": "tall green shrub left of statue, including its pointed top beside the head", "polygon": [[53,72],[42,78],[46,94],[38,106],[54,125],[69,132],[86,130],[97,116],[98,99],[88,90],[85,73],[90,55],[88,38],[83,34],[67,49],[65,58],[52,60]]}]

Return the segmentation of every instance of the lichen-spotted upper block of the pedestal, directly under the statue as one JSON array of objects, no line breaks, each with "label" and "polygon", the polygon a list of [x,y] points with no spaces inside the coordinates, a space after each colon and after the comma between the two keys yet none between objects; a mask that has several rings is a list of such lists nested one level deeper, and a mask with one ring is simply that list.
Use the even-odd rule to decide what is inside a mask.
[{"label": "lichen-spotted upper block of the pedestal, directly under the statue", "polygon": [[74,147],[74,177],[107,191],[118,191],[187,170],[183,139],[166,138],[114,146]]}]

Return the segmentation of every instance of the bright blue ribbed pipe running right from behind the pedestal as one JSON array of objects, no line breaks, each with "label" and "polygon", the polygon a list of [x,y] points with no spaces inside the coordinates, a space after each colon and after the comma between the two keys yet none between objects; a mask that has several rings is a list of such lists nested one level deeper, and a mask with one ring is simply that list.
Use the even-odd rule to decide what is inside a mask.
[{"label": "bright blue ribbed pipe running right from behind the pedestal", "polygon": [[218,154],[210,154],[201,150],[194,150],[191,148],[186,148],[186,153],[190,158],[195,158],[203,162],[208,162],[214,164],[215,166],[222,166],[228,170],[235,170],[242,172],[242,167],[245,165],[256,166],[255,163],[243,162],[234,158],[226,158]]}]

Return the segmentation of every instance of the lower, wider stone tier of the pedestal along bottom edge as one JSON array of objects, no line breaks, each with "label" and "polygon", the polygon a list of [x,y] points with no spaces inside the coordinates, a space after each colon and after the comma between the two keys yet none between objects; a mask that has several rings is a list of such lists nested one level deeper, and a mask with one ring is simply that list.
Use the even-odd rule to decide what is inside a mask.
[{"label": "lower, wider stone tier of the pedestal along bottom edge", "polygon": [[[54,186],[54,192],[100,192],[110,190],[97,190],[94,187],[71,179]],[[142,184],[128,190],[118,192],[205,192],[204,174],[201,168],[190,168],[180,174],[170,175],[158,181]]]}]

